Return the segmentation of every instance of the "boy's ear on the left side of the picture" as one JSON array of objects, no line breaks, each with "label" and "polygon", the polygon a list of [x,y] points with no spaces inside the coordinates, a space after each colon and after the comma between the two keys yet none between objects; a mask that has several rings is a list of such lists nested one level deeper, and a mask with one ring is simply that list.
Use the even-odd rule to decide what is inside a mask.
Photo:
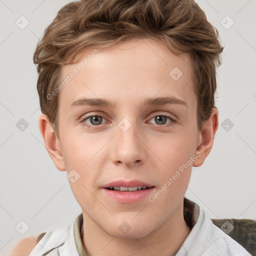
[{"label": "boy's ear on the left side of the picture", "polygon": [[60,142],[56,137],[54,130],[51,127],[51,123],[45,114],[39,116],[39,129],[44,140],[46,150],[54,162],[57,169],[65,171],[65,163],[62,155],[62,149]]}]

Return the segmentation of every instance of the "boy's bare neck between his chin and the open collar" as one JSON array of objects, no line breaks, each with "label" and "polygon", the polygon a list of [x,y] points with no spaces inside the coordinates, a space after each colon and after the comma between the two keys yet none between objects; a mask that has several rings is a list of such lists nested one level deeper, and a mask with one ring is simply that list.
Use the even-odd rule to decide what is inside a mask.
[{"label": "boy's bare neck between his chin and the open collar", "polygon": [[161,226],[139,239],[112,236],[92,221],[85,212],[82,214],[84,225],[81,227],[81,240],[88,256],[171,256],[181,247],[190,232],[183,218],[183,203]]}]

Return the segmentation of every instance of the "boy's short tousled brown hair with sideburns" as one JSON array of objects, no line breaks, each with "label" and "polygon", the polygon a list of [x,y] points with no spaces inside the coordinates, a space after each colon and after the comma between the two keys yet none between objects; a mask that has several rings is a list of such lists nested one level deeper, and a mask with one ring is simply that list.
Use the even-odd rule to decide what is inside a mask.
[{"label": "boy's short tousled brown hair with sideburns", "polygon": [[41,112],[58,137],[58,94],[63,65],[88,47],[106,48],[128,37],[160,39],[175,54],[188,53],[197,96],[197,127],[215,107],[216,66],[223,47],[217,29],[194,0],[80,0],[64,5],[45,29],[33,55]]}]

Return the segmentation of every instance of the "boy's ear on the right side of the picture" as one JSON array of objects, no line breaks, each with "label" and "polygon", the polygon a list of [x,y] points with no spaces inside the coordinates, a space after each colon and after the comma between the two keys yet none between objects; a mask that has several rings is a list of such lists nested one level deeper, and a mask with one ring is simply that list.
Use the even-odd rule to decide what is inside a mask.
[{"label": "boy's ear on the right side of the picture", "polygon": [[[209,154],[216,130],[218,128],[218,109],[215,107],[211,108],[211,114],[208,120],[203,124],[202,131],[200,133],[200,144],[196,147],[196,151],[200,151],[201,154],[196,160],[193,161],[193,166],[198,167],[203,164],[205,158]],[[197,154],[198,155],[198,154]]]}]

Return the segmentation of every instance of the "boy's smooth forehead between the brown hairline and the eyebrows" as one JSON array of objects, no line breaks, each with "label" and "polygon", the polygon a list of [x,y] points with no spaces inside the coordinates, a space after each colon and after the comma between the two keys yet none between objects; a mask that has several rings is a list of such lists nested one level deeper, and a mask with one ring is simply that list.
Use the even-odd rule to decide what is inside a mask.
[{"label": "boy's smooth forehead between the brown hairline and the eyebrows", "polygon": [[107,98],[117,105],[154,95],[195,103],[189,56],[174,54],[160,40],[132,38],[103,50],[87,48],[77,63],[62,68],[60,80],[66,83],[59,106],[70,106],[82,96]]}]

